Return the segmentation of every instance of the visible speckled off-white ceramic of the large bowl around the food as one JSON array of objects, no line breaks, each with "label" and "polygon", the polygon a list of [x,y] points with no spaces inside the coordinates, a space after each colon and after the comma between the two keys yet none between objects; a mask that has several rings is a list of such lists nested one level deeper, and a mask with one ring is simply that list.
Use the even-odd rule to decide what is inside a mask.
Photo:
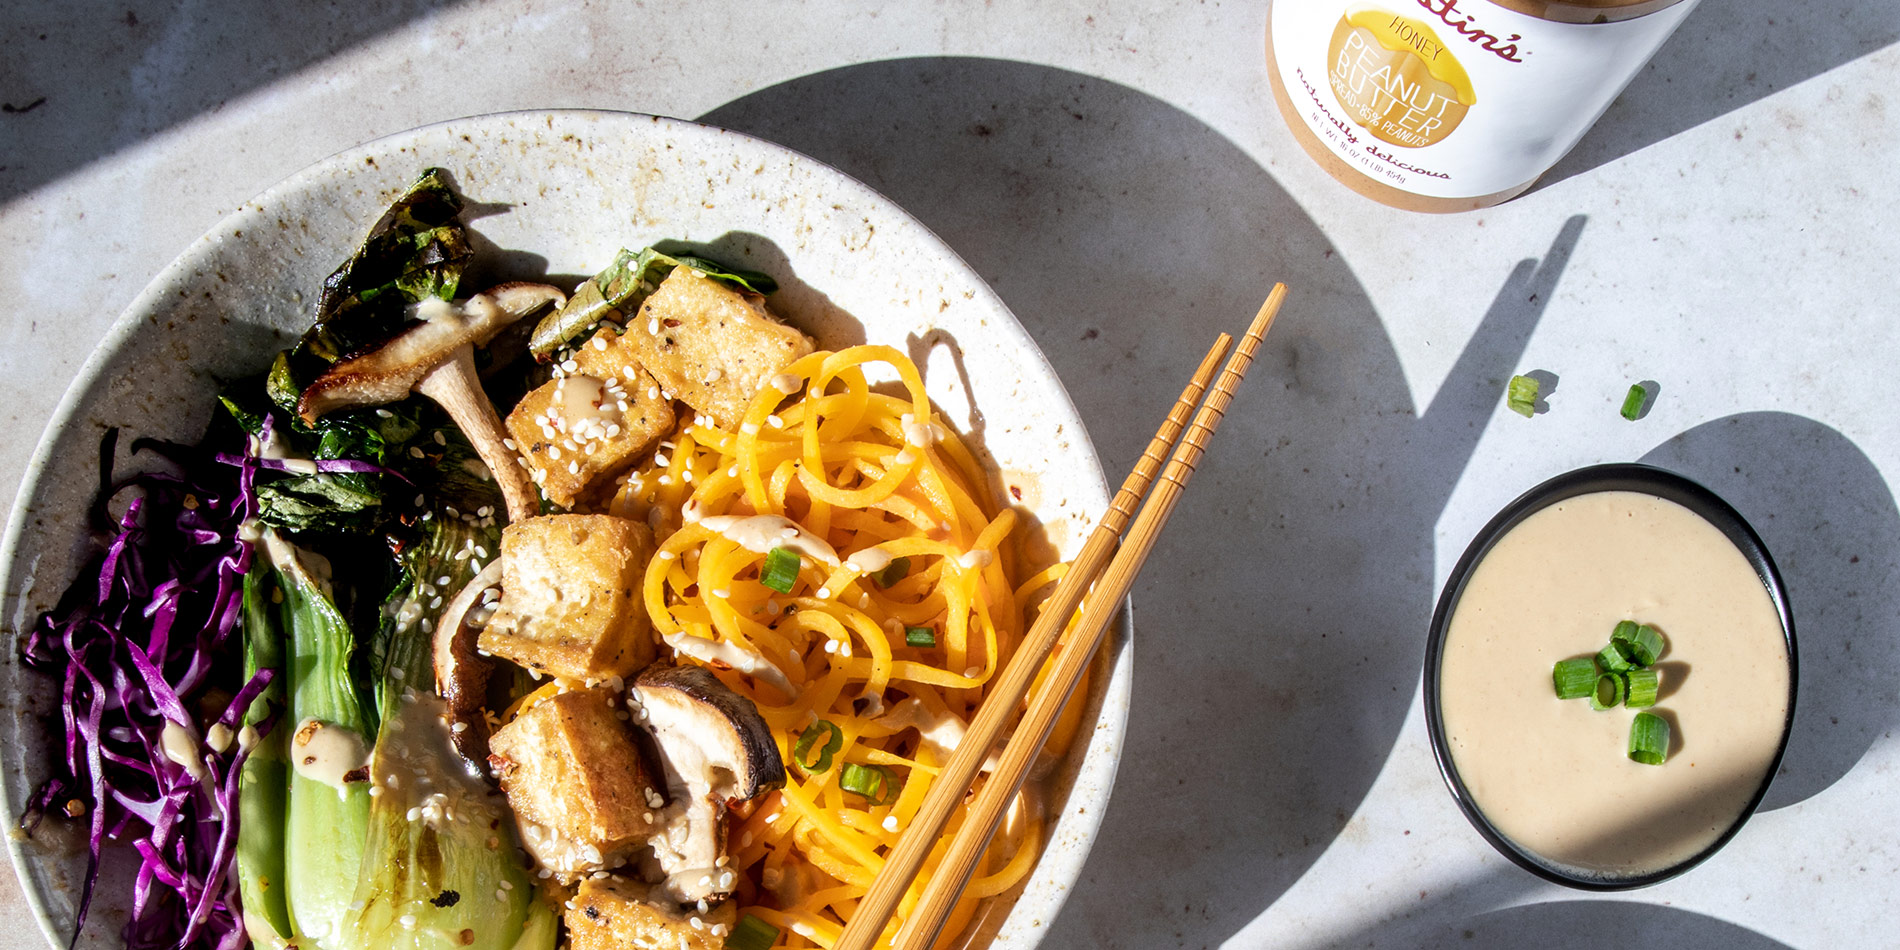
[{"label": "visible speckled off-white ceramic of the large bowl around the food", "polygon": [[[194,441],[220,380],[256,372],[310,321],[315,289],[428,165],[469,200],[488,276],[578,281],[619,247],[674,238],[779,279],[773,308],[821,346],[880,342],[923,367],[929,395],[982,445],[998,486],[1056,553],[1079,549],[1108,494],[1049,363],[1003,302],[923,224],[864,184],[747,135],[623,112],[511,112],[428,125],[319,162],[192,243],[127,308],[48,424],[13,505],[0,568],[17,636],[86,553],[101,433]],[[477,270],[492,274],[475,274]],[[122,439],[120,445],[127,445]],[[122,471],[137,462],[120,456]],[[1127,636],[1100,659],[1089,720],[1051,779],[1049,846],[1026,885],[978,918],[994,946],[1032,946],[1075,882],[1113,785],[1127,720]],[[6,813],[57,754],[57,684],[0,663]],[[57,724],[57,720],[53,720]],[[55,823],[48,823],[55,825]],[[48,937],[65,946],[86,870],[74,842],[10,842]],[[108,876],[110,878],[110,876]],[[118,946],[125,882],[106,880],[80,946]]]}]

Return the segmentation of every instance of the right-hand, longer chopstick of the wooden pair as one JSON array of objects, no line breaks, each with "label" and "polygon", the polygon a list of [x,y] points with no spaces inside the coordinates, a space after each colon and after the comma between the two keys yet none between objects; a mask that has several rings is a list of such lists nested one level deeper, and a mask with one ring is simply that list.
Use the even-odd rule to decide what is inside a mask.
[{"label": "right-hand, longer chopstick of the wooden pair", "polygon": [[956,838],[950,840],[950,847],[937,864],[937,872],[931,874],[929,884],[923,885],[923,895],[918,899],[918,906],[912,908],[910,916],[899,929],[895,940],[899,950],[920,950],[929,946],[942,929],[950,910],[963,895],[963,887],[977,872],[977,864],[982,861],[984,851],[988,851],[990,838],[996,836],[996,826],[1009,809],[1009,802],[1022,788],[1022,781],[1028,777],[1030,766],[1036,762],[1036,754],[1041,750],[1043,743],[1049,741],[1049,733],[1054,730],[1056,718],[1062,714],[1062,707],[1075,692],[1075,686],[1089,669],[1089,663],[1092,661],[1096,648],[1100,648],[1110,623],[1121,610],[1121,598],[1127,597],[1129,587],[1134,583],[1134,576],[1142,568],[1142,560],[1148,559],[1155,540],[1161,536],[1161,524],[1167,522],[1168,515],[1174,511],[1174,504],[1182,496],[1182,490],[1188,488],[1188,479],[1201,462],[1201,454],[1206,450],[1206,441],[1214,435],[1214,429],[1227,412],[1227,405],[1233,401],[1233,390],[1246,374],[1248,365],[1252,365],[1254,353],[1260,350],[1260,342],[1265,336],[1267,327],[1273,323],[1284,296],[1286,287],[1275,285],[1267,302],[1262,304],[1260,314],[1254,315],[1254,323],[1248,327],[1246,336],[1241,338],[1241,346],[1235,350],[1227,369],[1220,374],[1214,393],[1208,395],[1206,405],[1203,405],[1195,414],[1188,435],[1182,439],[1180,446],[1174,448],[1168,467],[1161,473],[1161,484],[1155,486],[1153,496],[1134,519],[1134,526],[1129,528],[1129,536],[1123,540],[1121,551],[1108,564],[1108,570],[1102,572],[1102,578],[1096,580],[1094,591],[1081,612],[1081,619],[1075,623],[1075,633],[1070,635],[1070,640],[1056,656],[1054,669],[1051,669],[1047,680],[1043,680],[1043,688],[1030,701],[1030,709],[1022,714],[1022,722],[1016,724],[1016,732],[1009,737],[1009,743],[1003,745],[1001,758],[990,773],[990,781],[984,783],[980,792],[977,792],[977,800],[963,817],[963,826],[958,828]]}]

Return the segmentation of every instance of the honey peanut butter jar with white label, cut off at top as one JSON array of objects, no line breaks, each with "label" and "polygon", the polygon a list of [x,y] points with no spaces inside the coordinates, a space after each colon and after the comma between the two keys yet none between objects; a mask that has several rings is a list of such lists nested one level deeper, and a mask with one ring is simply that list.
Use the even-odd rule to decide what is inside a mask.
[{"label": "honey peanut butter jar with white label, cut off at top", "polygon": [[1408,211],[1524,194],[1699,0],[1273,0],[1267,76],[1334,179]]}]

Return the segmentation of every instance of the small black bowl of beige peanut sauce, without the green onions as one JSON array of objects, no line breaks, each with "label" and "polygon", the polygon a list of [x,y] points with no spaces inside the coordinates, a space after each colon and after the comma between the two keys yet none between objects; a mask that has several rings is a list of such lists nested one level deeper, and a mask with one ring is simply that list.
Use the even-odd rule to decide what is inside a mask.
[{"label": "small black bowl of beige peanut sauce, without the green onions", "polygon": [[[1558,699],[1552,665],[1594,656],[1617,621],[1666,636],[1649,709]],[[1596,466],[1531,488],[1459,559],[1433,616],[1433,754],[1505,857],[1583,889],[1699,864],[1759,806],[1794,722],[1794,619],[1775,562],[1721,498],[1649,466]],[[1670,726],[1638,764],[1638,712]]]}]

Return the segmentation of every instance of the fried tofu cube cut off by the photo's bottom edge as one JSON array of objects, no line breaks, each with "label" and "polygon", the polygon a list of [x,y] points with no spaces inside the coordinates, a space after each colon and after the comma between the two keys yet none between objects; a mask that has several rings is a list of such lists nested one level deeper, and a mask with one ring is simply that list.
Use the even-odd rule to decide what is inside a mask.
[{"label": "fried tofu cube cut off by the photo's bottom edge", "polygon": [[[665,899],[648,899],[644,884],[625,878],[589,878],[568,901],[566,923],[572,950],[722,950],[739,923],[739,904],[726,901],[707,910],[673,910]],[[694,925],[697,923],[697,927]]]}]

